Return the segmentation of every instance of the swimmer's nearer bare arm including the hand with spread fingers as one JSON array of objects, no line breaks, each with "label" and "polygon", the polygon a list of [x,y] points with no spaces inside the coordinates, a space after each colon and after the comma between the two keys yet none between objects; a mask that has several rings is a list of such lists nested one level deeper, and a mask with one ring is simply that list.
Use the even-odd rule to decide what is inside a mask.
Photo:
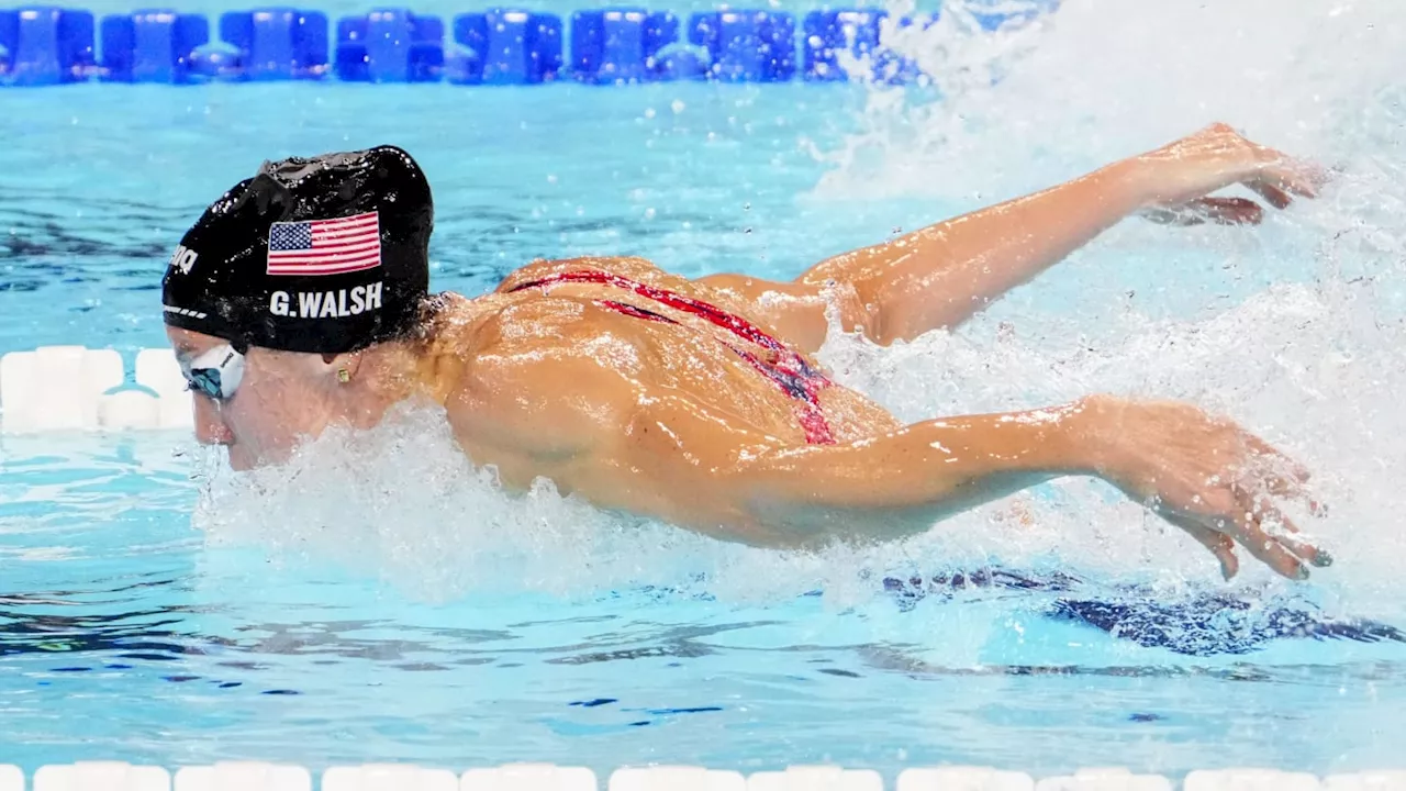
[{"label": "swimmer's nearer bare arm including the hand with spread fingers", "polygon": [[[617,436],[626,438],[614,443],[620,450],[598,459],[628,470],[614,477],[628,486],[605,494],[745,543],[903,538],[1053,477],[1097,476],[1191,535],[1227,576],[1237,542],[1289,578],[1308,576],[1303,562],[1331,562],[1271,501],[1305,498],[1308,472],[1189,404],[1091,396],[922,421],[842,445],[783,446],[685,398],[661,397]],[[1271,535],[1265,521],[1285,529]]]}]

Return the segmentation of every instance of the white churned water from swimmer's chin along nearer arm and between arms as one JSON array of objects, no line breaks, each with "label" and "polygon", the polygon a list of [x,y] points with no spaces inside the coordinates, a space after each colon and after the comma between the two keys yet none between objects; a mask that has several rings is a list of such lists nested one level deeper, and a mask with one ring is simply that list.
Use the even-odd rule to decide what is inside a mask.
[{"label": "white churned water from swimmer's chin along nearer arm and between arms", "polygon": [[[1395,388],[1406,384],[1406,329],[1365,353],[1341,318],[1361,303],[1279,287],[1199,324],[1130,318],[1123,341],[1028,342],[1008,328],[931,334],[891,349],[837,336],[823,353],[846,384],[905,419],[1026,408],[1088,391],[1181,397],[1227,412],[1319,473],[1331,504],[1305,521],[1339,557],[1317,573],[1355,615],[1399,612],[1391,571],[1406,549],[1382,483],[1406,474],[1393,438],[1406,432]],[[1360,310],[1360,308],[1353,308]],[[1249,352],[1247,349],[1254,349]],[[1153,363],[1154,360],[1154,363]],[[1066,567],[1105,580],[1213,583],[1216,567],[1178,531],[1101,484],[1071,480],[959,515],[912,540],[769,552],[623,519],[541,484],[510,495],[475,470],[433,410],[404,410],[354,441],[329,432],[287,466],[218,477],[198,524],[215,543],[253,543],[274,557],[333,560],[437,600],[534,590],[593,597],[652,586],[737,601],[824,588],[835,605],[879,595],[882,573],[929,573],[997,560]],[[1268,574],[1247,559],[1244,578]]]}]

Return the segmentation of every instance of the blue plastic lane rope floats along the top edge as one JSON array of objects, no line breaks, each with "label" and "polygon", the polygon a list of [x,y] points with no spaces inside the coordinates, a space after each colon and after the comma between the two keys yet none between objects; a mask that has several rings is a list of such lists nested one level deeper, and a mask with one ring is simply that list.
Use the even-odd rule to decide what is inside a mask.
[{"label": "blue plastic lane rope floats along the top edge", "polygon": [[[0,10],[0,86],[80,82],[323,80],[457,84],[593,84],[710,79],[848,80],[842,55],[870,79],[912,82],[917,65],[884,49],[882,10],[669,11],[613,7],[555,14],[491,8],[446,24],[409,8],[336,20],[298,8],[228,11],[212,21],[176,10],[105,15],[59,7]],[[897,28],[929,25],[904,17]],[[1011,17],[1015,18],[1015,17]],[[984,30],[1008,21],[979,18]]]}]

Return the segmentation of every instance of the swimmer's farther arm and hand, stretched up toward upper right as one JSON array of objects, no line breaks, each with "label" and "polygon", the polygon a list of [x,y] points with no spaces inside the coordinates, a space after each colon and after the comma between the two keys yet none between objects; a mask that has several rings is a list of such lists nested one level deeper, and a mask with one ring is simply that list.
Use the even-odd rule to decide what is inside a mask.
[{"label": "swimmer's farther arm and hand, stretched up toward upper right", "polygon": [[955,327],[1136,213],[1181,207],[1226,222],[1256,221],[1249,200],[1204,198],[1241,183],[1278,208],[1312,197],[1313,169],[1216,124],[1063,184],[897,239],[846,252],[801,276],[811,284],[853,283],[860,298],[911,338]]}]

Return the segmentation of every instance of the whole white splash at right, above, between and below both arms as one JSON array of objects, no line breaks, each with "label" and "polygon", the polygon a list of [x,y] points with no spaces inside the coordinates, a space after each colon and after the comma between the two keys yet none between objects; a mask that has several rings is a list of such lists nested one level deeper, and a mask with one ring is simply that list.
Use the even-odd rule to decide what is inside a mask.
[{"label": "whole white splash at right, above, between and below both arms", "polygon": [[[870,86],[860,128],[820,152],[831,169],[813,200],[976,208],[1211,121],[1337,175],[1320,200],[1271,211],[1258,228],[1125,222],[956,335],[887,350],[832,341],[825,360],[908,419],[1091,391],[1185,398],[1229,414],[1317,472],[1333,515],[1306,526],[1329,539],[1339,563],[1316,584],[1358,611],[1399,614],[1406,586],[1391,571],[1406,557],[1406,500],[1395,483],[1406,473],[1398,439],[1406,418],[1395,405],[1406,388],[1399,8],[1069,0],[998,35],[973,35],[960,21],[900,32],[886,44],[917,61],[942,100],[921,86]],[[1036,500],[1036,521],[1071,563],[1116,569],[1136,560],[1129,546],[1144,548],[1153,564],[1191,552],[1185,540],[1150,539],[1139,522],[1174,531],[1105,502],[1098,487],[1063,490],[1071,500]],[[1171,566],[1181,573],[1180,562]]]}]

